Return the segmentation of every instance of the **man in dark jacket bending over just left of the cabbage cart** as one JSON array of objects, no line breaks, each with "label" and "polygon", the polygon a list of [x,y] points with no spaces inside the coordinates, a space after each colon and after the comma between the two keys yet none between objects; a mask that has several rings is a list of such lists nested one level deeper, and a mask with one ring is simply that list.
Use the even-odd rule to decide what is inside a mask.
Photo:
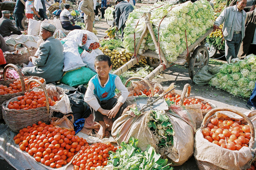
[{"label": "man in dark jacket bending over just left of the cabbage cart", "polygon": [[115,6],[115,23],[116,30],[121,29],[122,40],[123,40],[123,30],[125,28],[125,21],[127,20],[130,12],[134,10],[133,6],[123,0],[117,0]]}]

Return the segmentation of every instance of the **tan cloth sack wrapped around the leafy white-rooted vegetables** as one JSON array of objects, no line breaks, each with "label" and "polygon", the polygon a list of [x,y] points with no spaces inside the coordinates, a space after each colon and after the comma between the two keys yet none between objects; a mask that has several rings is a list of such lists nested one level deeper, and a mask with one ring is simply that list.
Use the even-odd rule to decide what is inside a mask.
[{"label": "tan cloth sack wrapped around the leafy white-rooted vegetables", "polygon": [[131,137],[139,139],[138,147],[145,151],[150,144],[156,151],[171,159],[174,165],[181,165],[186,162],[194,151],[194,132],[184,120],[175,113],[166,113],[174,129],[174,145],[166,150],[157,147],[155,136],[145,123],[145,119],[150,116],[150,112],[144,112],[136,116],[131,111],[126,111],[113,124],[112,136],[120,144],[122,141],[128,142]]}]

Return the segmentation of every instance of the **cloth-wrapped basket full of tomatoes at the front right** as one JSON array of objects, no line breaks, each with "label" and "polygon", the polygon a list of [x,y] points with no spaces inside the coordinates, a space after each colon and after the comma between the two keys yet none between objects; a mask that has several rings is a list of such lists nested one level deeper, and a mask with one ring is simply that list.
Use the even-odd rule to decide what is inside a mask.
[{"label": "cloth-wrapped basket full of tomatoes at the front right", "polygon": [[254,137],[253,124],[245,114],[230,108],[210,110],[195,135],[194,156],[199,169],[249,168]]}]

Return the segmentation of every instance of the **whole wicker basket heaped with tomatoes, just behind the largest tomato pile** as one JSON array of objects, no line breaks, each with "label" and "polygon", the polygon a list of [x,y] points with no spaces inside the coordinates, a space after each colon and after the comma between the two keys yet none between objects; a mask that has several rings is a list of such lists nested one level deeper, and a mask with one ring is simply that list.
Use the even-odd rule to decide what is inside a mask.
[{"label": "whole wicker basket heaped with tomatoes, just behind the largest tomato pile", "polygon": [[[38,83],[44,92],[30,91],[30,84],[33,82]],[[54,105],[54,102],[48,97],[45,86],[38,80],[29,80],[25,95],[17,96],[2,104],[3,117],[10,129],[18,132],[38,121],[49,123],[50,104]]]}]

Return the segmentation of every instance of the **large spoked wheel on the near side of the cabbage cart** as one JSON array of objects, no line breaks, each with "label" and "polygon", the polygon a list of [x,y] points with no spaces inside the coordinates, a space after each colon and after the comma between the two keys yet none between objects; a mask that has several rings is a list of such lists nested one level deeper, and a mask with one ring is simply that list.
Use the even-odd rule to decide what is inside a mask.
[{"label": "large spoked wheel on the near side of the cabbage cart", "polygon": [[209,52],[204,45],[200,45],[193,52],[188,66],[189,77],[193,80],[197,72],[205,65],[208,65]]}]

